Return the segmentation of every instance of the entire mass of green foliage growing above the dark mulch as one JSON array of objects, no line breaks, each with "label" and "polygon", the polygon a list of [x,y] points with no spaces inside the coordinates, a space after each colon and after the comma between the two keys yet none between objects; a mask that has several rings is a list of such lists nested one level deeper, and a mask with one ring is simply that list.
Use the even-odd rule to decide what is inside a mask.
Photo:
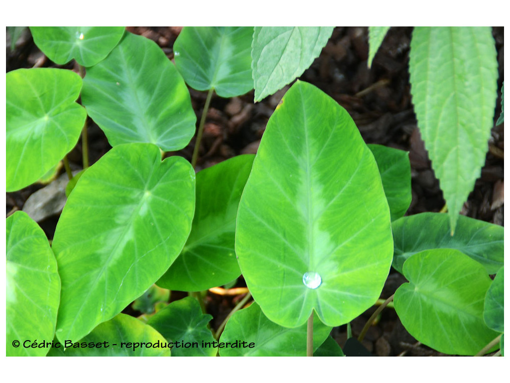
[{"label": "entire mass of green foliage growing above the dark mulch", "polygon": [[[369,63],[387,30],[369,29]],[[51,244],[27,213],[7,218],[7,355],[342,356],[331,329],[378,301],[391,267],[407,282],[375,314],[393,300],[407,331],[437,351],[503,354],[503,228],[458,215],[494,126],[490,28],[412,36],[413,103],[448,214],[404,216],[407,153],[366,145],[342,106],[299,80],[257,155],[195,174],[214,93],[254,88],[262,100],[299,77],[332,31],[185,27],[173,64],[124,28],[31,27],[50,60],[75,60],[79,74],[6,75],[7,192],[62,160],[70,179]],[[191,162],[174,155],[195,135],[188,86],[208,92]],[[87,117],[112,147],[91,166]],[[73,175],[66,155],[80,137]],[[240,275],[248,292],[211,330],[203,292]],[[168,304],[169,290],[190,296]],[[130,305],[145,314],[123,314]]]}]

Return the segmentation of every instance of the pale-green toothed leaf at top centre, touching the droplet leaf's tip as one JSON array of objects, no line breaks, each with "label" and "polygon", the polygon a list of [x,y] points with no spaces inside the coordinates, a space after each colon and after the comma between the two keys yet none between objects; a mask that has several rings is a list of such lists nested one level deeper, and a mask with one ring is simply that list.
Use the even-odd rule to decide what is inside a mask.
[{"label": "pale-green toothed leaf at top centre, touching the droplet leaf's tip", "polygon": [[301,76],[331,33],[333,27],[255,27],[251,48],[255,101]]}]

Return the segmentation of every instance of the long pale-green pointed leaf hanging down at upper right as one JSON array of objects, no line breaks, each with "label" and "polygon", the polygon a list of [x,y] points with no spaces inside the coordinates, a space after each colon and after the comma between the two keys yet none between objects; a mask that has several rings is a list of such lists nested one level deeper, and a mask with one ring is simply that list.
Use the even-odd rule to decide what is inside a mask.
[{"label": "long pale-green pointed leaf hanging down at upper right", "polygon": [[409,70],[418,127],[453,233],[494,124],[498,69],[491,28],[415,28]]}]

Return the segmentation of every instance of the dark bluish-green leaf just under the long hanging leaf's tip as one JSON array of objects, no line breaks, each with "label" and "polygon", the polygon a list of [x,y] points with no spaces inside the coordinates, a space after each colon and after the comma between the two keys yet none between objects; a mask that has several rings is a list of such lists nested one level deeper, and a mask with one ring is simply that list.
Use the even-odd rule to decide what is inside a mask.
[{"label": "dark bluish-green leaf just under the long hanging leaf's tip", "polygon": [[402,217],[392,223],[395,254],[393,267],[402,272],[404,261],[427,249],[457,249],[480,262],[488,274],[503,266],[503,227],[458,217],[457,229],[451,235],[448,214],[420,213]]}]

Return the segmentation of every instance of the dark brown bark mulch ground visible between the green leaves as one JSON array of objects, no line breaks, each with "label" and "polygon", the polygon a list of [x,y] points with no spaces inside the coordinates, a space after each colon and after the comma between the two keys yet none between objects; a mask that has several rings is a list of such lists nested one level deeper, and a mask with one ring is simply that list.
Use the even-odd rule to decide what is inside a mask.
[{"label": "dark brown bark mulch ground visible between the green leaves", "polygon": [[[181,31],[180,27],[131,27],[130,32],[144,35],[156,41],[165,54],[172,59],[172,45]],[[35,46],[30,33],[21,37],[16,49],[7,48],[7,71],[25,67],[54,66],[45,59]],[[407,215],[424,211],[439,211],[445,204],[439,183],[430,168],[423,141],[417,129],[416,117],[411,103],[409,85],[409,44],[412,28],[391,28],[375,56],[372,68],[367,68],[368,41],[366,27],[338,27],[312,66],[301,76],[333,97],[347,109],[367,143],[403,149],[410,152],[412,166],[413,200]],[[503,73],[503,27],[493,28],[499,62],[498,89],[504,79]],[[9,37],[8,37],[9,38]],[[8,41],[7,46],[10,45]],[[73,68],[72,64],[65,66]],[[77,70],[78,71],[78,70]],[[277,92],[260,103],[253,104],[253,91],[233,99],[214,97],[207,116],[207,124],[200,144],[197,170],[211,166],[235,155],[256,153],[268,118],[288,89]],[[197,118],[206,99],[206,92],[190,89]],[[496,108],[499,116],[500,98]],[[496,119],[495,118],[495,119]],[[100,129],[89,121],[90,160],[95,162],[110,146]],[[179,152],[191,160],[194,139]],[[465,203],[462,214],[479,220],[503,225],[503,125],[494,127],[489,142],[489,153],[481,177]],[[69,160],[75,169],[81,166],[81,142],[70,153]],[[27,198],[41,185],[32,185],[16,193],[7,193],[6,212],[22,209]],[[58,215],[39,224],[49,238],[53,237]],[[391,272],[381,297],[387,298],[405,279]],[[243,286],[240,278],[237,286]],[[184,294],[184,293],[183,293]],[[172,300],[179,299],[179,292],[172,293]],[[184,296],[184,295],[183,295]],[[207,309],[214,316],[212,327],[216,328],[241,297],[225,298],[212,293],[207,296]],[[352,321],[353,336],[356,337],[365,321],[375,310],[367,310]],[[346,326],[337,327],[333,337],[343,346],[347,334]],[[398,320],[394,310],[385,309],[377,325],[372,326],[363,342],[375,355],[442,355],[417,344]]]}]

